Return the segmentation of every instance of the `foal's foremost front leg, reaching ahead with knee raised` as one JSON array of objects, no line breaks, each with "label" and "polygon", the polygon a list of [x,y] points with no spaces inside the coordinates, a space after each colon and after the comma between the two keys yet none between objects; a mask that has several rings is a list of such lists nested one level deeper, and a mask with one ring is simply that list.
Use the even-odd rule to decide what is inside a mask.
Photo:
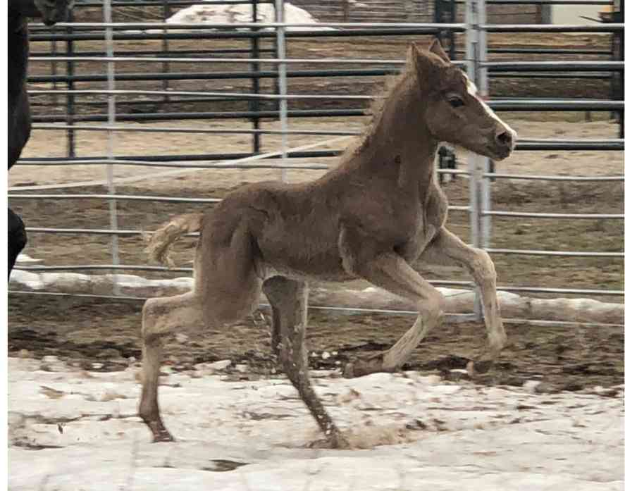
[{"label": "foal's foremost front leg, reaching ahead with knee raised", "polygon": [[428,244],[418,262],[442,266],[459,265],[469,270],[480,289],[490,356],[497,359],[506,344],[507,335],[497,301],[497,273],[488,253],[465,244],[443,227],[435,239]]}]

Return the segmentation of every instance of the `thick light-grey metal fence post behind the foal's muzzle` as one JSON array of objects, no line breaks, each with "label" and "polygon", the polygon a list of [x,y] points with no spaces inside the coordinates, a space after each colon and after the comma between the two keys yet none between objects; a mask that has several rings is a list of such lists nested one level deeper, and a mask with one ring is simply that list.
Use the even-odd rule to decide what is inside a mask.
[{"label": "thick light-grey metal fence post behind the foal's muzzle", "polygon": [[[470,80],[477,82],[479,58],[479,38],[478,38],[478,0],[466,0],[464,4],[464,22],[466,23],[466,31],[464,34],[464,56],[466,60],[466,75]],[[478,155],[469,152],[469,206],[471,207],[471,243],[474,247],[482,247],[481,232],[481,200],[483,198],[481,192],[482,169]],[[482,302],[478,287],[474,287],[474,313],[476,318],[481,319],[483,316]]]}]

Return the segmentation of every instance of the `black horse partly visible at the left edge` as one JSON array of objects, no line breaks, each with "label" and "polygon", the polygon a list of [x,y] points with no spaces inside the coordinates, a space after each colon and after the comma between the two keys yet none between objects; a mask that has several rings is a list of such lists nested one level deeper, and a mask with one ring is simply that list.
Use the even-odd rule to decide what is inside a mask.
[{"label": "black horse partly visible at the left edge", "polygon": [[[28,19],[45,25],[66,20],[73,0],[8,0],[8,168],[20,158],[30,137],[30,106],[26,92]],[[8,209],[8,275],[26,245],[22,219]]]}]

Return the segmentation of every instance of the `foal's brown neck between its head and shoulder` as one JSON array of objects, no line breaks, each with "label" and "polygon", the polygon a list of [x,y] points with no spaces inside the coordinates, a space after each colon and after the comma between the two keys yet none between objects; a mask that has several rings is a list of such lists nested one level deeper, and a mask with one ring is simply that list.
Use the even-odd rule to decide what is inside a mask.
[{"label": "foal's brown neck between its head and shoulder", "polygon": [[406,74],[389,94],[361,149],[359,168],[388,175],[401,189],[426,189],[432,180],[439,142],[425,121],[425,104],[414,97],[414,79]]}]

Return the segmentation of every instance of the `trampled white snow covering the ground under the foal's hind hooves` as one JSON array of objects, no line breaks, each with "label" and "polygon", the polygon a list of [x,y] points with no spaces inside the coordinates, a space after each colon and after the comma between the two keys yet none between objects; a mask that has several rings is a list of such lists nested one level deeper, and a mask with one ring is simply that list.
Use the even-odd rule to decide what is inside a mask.
[{"label": "trampled white snow covering the ground under the foal's hind hooves", "polygon": [[152,444],[135,416],[136,366],[95,373],[47,358],[8,360],[14,491],[624,488],[623,386],[537,394],[326,373],[316,390],[357,447],[330,450],[307,447],[320,435],[287,380],[231,382],[198,366],[161,378],[178,442]]}]

